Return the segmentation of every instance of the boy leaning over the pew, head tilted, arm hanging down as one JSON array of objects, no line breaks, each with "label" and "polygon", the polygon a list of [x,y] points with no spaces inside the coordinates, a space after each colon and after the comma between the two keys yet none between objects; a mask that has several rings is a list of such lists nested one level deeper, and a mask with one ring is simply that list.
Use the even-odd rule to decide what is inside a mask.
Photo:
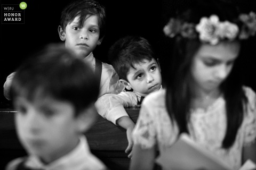
[{"label": "boy leaning over the pew, head tilted, arm hanging down", "polygon": [[161,69],[154,58],[153,48],[142,37],[126,36],[117,40],[108,55],[120,77],[119,81],[127,90],[133,91],[103,95],[95,106],[103,118],[126,129],[129,145],[125,152],[129,152],[132,149],[134,122],[124,107],[140,106],[144,97],[162,88]]}]

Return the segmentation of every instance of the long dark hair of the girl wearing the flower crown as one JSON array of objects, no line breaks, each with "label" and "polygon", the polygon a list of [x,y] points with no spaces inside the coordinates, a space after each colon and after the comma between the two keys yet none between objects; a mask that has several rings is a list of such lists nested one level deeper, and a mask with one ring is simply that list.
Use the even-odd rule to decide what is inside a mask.
[{"label": "long dark hair of the girl wearing the flower crown", "polygon": [[[189,22],[199,23],[203,16],[209,17],[211,14],[219,16],[221,21],[235,22],[238,17],[238,8],[230,3],[218,0],[195,0],[186,10],[178,12],[178,18]],[[246,104],[241,76],[241,44],[240,54],[237,57],[234,67],[227,79],[222,82],[220,90],[226,100],[227,130],[222,141],[223,148],[233,145],[236,134],[243,121],[243,104]],[[169,80],[167,80],[166,106],[172,120],[177,121],[180,133],[188,132],[188,122],[190,120],[191,106],[191,63],[197,50],[201,46],[198,39],[189,40],[182,36],[175,39],[175,46],[172,55],[171,67],[169,70]]]}]

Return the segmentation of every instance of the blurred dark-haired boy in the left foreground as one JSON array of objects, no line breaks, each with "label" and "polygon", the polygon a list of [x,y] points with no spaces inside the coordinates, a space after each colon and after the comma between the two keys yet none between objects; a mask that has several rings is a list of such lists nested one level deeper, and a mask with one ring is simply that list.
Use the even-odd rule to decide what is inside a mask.
[{"label": "blurred dark-haired boy in the left foreground", "polygon": [[17,134],[28,156],[12,160],[6,169],[107,169],[83,134],[98,115],[98,83],[89,64],[58,45],[23,63],[11,96],[18,111]]}]

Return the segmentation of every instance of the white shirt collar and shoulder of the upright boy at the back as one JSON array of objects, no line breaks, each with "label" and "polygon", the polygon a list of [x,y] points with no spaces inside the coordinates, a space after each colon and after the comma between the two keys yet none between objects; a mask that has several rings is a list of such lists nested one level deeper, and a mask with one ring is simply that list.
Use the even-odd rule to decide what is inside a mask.
[{"label": "white shirt collar and shoulder of the upright boy at the back", "polygon": [[[93,53],[91,52],[86,58],[84,58],[84,60],[88,62],[95,71],[95,58]],[[119,77],[114,67],[110,64],[102,62],[99,97],[104,94],[119,94],[119,92],[123,90],[124,86],[119,82]]]}]

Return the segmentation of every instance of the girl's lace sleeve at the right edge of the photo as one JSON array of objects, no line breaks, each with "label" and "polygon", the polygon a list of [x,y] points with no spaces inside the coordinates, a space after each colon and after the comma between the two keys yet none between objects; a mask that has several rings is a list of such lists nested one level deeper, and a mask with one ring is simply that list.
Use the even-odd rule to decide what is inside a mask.
[{"label": "girl's lace sleeve at the right edge of the photo", "polygon": [[247,114],[245,115],[245,145],[255,142],[256,138],[256,96],[252,89],[247,88],[245,90],[248,98]]}]

